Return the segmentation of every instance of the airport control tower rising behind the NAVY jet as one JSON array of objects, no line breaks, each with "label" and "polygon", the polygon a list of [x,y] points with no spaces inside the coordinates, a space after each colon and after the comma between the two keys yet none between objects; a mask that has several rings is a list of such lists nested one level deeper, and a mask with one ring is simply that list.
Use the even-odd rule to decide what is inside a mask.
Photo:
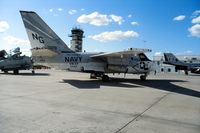
[{"label": "airport control tower rising behind the NAVY jet", "polygon": [[84,31],[80,28],[74,27],[71,30],[72,34],[69,37],[72,37],[71,40],[71,49],[75,52],[82,52],[83,45],[83,33]]}]

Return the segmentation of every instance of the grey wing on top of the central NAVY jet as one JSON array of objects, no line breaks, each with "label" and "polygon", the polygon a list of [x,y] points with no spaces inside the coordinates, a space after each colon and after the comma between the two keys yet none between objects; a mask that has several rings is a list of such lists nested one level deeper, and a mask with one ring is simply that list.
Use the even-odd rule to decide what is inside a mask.
[{"label": "grey wing on top of the central NAVY jet", "polygon": [[97,55],[92,55],[91,58],[107,58],[107,57],[127,57],[130,55],[137,55],[140,53],[151,52],[151,49],[139,49],[139,48],[130,48],[129,50],[113,52],[113,53],[101,53]]}]

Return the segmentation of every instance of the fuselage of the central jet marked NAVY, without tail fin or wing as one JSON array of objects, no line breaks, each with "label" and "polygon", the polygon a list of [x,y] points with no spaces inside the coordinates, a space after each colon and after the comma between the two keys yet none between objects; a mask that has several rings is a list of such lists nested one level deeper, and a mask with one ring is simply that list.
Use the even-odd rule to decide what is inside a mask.
[{"label": "fuselage of the central jet marked NAVY, without tail fin or wing", "polygon": [[34,62],[50,67],[57,66],[64,70],[78,72],[99,72],[99,73],[149,73],[151,61],[141,61],[136,56],[108,57],[105,59],[92,58],[91,56],[100,53],[62,53],[54,57],[34,56]]}]

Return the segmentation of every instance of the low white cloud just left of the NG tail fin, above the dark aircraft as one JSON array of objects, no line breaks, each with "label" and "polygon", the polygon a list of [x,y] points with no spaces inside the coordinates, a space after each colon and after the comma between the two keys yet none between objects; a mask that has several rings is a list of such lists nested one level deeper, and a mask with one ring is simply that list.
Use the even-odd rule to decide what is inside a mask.
[{"label": "low white cloud just left of the NG tail fin, above the dark aircraft", "polygon": [[14,36],[6,36],[3,38],[4,41],[7,42],[7,44],[11,45],[30,45],[30,42],[25,39],[17,38]]}]

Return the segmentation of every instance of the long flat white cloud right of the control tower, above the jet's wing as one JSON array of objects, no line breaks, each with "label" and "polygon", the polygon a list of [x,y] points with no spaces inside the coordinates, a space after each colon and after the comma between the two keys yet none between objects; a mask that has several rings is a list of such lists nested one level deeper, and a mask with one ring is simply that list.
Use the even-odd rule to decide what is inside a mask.
[{"label": "long flat white cloud right of the control tower, above the jet's wing", "polygon": [[108,42],[115,40],[122,40],[127,38],[135,38],[138,37],[139,34],[135,31],[111,31],[111,32],[103,32],[97,35],[89,36],[89,38],[100,41],[100,42]]}]

